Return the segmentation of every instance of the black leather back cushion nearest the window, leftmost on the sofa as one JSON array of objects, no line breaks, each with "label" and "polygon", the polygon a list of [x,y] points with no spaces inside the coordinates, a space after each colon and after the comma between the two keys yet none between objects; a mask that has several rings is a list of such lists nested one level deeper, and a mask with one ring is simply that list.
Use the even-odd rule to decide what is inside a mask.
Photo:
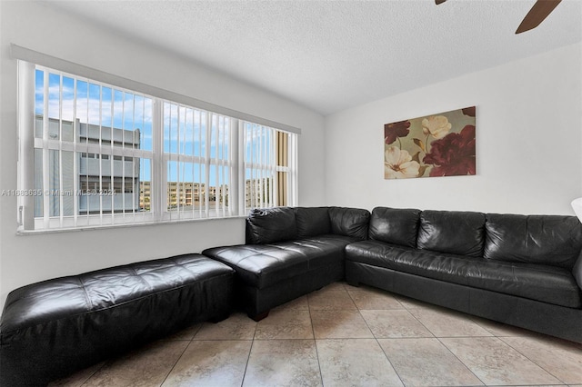
[{"label": "black leather back cushion nearest the window, leftmost on the sofa", "polygon": [[246,243],[265,244],[297,238],[295,209],[275,207],[251,210],[246,218]]}]

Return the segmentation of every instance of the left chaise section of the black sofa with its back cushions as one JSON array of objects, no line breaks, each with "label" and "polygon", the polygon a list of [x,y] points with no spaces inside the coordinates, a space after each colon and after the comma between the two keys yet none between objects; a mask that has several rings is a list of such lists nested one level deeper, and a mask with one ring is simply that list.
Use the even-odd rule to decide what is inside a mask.
[{"label": "left chaise section of the black sofa with its back cushions", "polygon": [[342,280],[346,245],[367,238],[369,215],[342,207],[254,210],[246,244],[202,253],[235,269],[236,303],[259,321],[277,305]]}]

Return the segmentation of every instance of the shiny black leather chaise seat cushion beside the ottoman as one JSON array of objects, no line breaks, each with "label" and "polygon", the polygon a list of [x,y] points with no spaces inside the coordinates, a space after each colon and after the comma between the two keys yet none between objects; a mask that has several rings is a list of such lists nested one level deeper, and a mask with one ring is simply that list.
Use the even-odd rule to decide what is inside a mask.
[{"label": "shiny black leather chaise seat cushion beside the ottoman", "polygon": [[246,285],[258,289],[331,263],[341,263],[346,244],[356,238],[327,234],[267,244],[214,247],[204,255],[226,263]]}]

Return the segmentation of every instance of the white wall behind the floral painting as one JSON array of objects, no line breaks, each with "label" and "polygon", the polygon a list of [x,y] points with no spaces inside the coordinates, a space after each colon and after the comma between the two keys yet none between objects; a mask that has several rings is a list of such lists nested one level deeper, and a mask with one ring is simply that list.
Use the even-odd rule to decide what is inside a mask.
[{"label": "white wall behind the floral painting", "polygon": [[[326,202],[573,214],[582,196],[582,45],[326,117]],[[477,105],[477,175],[384,180],[384,124]]]}]

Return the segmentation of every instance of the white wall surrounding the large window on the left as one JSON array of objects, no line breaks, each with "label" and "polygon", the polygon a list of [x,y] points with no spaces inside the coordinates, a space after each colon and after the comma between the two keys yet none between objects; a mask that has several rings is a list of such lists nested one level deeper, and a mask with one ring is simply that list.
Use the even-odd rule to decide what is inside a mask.
[{"label": "white wall surrounding the large window on the left", "polygon": [[[324,203],[324,118],[320,114],[147,43],[55,12],[50,5],[0,1],[0,36],[0,192],[16,188],[16,61],[9,54],[9,45],[14,43],[302,128],[299,204]],[[0,213],[0,307],[9,291],[27,283],[244,242],[243,219],[16,236],[15,197],[0,197]]]}]

